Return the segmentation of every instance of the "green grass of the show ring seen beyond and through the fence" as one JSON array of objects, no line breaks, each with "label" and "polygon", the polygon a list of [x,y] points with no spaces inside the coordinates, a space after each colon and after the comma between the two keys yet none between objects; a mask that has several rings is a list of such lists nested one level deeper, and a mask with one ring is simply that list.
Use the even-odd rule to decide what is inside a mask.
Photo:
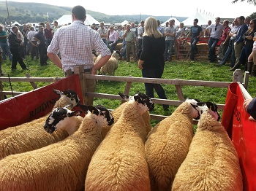
[{"label": "green grass of the show ring seen beyond and through the fence", "polygon": [[[4,73],[10,74],[10,77],[25,77],[26,73],[29,73],[31,77],[64,77],[63,72],[53,63],[48,66],[40,66],[39,61],[31,61],[29,57],[24,59],[24,62],[29,66],[30,71],[23,71],[20,66],[17,66],[17,71],[11,71],[10,61],[4,61],[2,63],[2,70]],[[173,61],[165,64],[165,71],[162,75],[163,79],[193,79],[193,80],[205,80],[216,82],[232,82],[233,72],[229,71],[229,66],[217,66],[214,63],[202,62],[190,62],[190,61]],[[141,71],[138,69],[137,63],[127,63],[124,61],[119,62],[116,76],[123,77],[141,77]],[[37,82],[37,87],[48,85],[47,82]],[[108,82],[99,80],[97,82],[97,93],[118,94],[118,92],[124,92],[126,86],[125,82]],[[178,100],[176,88],[174,85],[162,85],[165,89],[165,93],[168,99]],[[256,78],[249,77],[248,92],[252,97],[256,94]],[[11,90],[10,84],[4,82],[4,90]],[[14,91],[30,91],[33,90],[29,82],[12,82],[12,90]],[[197,98],[200,101],[211,101],[216,104],[225,104],[225,98],[227,95],[227,88],[219,87],[200,87],[200,86],[183,86],[182,91],[185,98]],[[145,87],[143,83],[132,83],[132,87],[129,95],[142,92],[145,93]],[[155,94],[155,98],[158,98]],[[108,100],[102,98],[95,98],[94,104],[102,104],[109,109],[116,108],[121,101]],[[152,114],[170,115],[176,109],[175,106],[170,106],[170,111],[165,112],[162,106],[156,104]],[[156,121],[152,122],[156,123]]]}]

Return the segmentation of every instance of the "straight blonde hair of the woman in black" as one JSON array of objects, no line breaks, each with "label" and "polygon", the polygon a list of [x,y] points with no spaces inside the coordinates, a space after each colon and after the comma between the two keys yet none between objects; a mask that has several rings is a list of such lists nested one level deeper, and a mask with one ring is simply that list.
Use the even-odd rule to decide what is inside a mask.
[{"label": "straight blonde hair of the woman in black", "polygon": [[155,17],[148,17],[145,20],[145,30],[143,36],[154,36],[155,38],[160,38],[163,35],[157,30],[158,24]]}]

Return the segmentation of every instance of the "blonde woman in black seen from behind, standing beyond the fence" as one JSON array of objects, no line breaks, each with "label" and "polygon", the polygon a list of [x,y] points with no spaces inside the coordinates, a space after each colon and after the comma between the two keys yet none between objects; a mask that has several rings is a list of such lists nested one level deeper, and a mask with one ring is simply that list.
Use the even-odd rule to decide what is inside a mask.
[{"label": "blonde woman in black seen from behind, standing beyond the fence", "polygon": [[[143,34],[143,50],[138,61],[138,67],[142,70],[142,76],[148,78],[161,78],[165,66],[165,36],[157,30],[157,20],[148,17],[145,21]],[[159,98],[167,99],[162,85],[145,83],[146,95],[154,98],[156,90]],[[163,105],[165,111],[168,105]]]}]

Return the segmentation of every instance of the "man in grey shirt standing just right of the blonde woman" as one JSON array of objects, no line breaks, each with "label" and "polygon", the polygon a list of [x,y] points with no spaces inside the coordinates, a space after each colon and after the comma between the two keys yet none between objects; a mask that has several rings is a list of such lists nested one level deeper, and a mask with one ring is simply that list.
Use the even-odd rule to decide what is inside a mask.
[{"label": "man in grey shirt standing just right of the blonde woman", "polygon": [[173,20],[170,20],[169,27],[165,28],[165,61],[169,61],[169,62],[172,61],[175,36],[176,36],[176,28],[173,27]]}]

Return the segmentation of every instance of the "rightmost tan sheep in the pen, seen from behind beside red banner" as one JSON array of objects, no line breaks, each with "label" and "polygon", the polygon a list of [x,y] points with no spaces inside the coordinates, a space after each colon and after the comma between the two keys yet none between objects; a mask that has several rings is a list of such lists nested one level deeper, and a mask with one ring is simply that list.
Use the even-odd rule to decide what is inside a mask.
[{"label": "rightmost tan sheep in the pen, seen from behind beside red banner", "polygon": [[[215,119],[214,119],[215,118]],[[172,190],[243,190],[238,155],[225,128],[204,112]]]}]

